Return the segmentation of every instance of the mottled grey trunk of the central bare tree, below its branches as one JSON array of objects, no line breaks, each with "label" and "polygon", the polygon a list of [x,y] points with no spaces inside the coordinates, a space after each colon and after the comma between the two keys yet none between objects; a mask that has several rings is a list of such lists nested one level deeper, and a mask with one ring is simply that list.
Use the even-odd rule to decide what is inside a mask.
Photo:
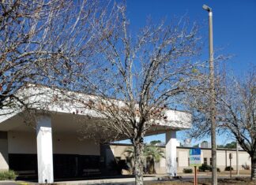
[{"label": "mottled grey trunk of the central bare tree, below its branches", "polygon": [[143,142],[134,142],[135,184],[143,185]]}]

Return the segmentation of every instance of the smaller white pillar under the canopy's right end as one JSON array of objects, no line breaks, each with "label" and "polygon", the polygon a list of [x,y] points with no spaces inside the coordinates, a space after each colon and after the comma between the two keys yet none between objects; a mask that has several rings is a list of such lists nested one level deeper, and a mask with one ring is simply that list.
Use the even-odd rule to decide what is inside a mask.
[{"label": "smaller white pillar under the canopy's right end", "polygon": [[169,176],[177,175],[176,165],[176,131],[167,131],[165,133],[165,160],[166,160],[166,171]]}]

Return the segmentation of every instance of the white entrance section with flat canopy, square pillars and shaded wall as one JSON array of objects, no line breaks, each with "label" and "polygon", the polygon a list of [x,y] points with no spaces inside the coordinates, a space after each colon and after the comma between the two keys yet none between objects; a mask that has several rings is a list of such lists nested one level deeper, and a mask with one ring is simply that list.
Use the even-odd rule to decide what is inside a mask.
[{"label": "white entrance section with flat canopy, square pillars and shaded wall", "polygon": [[[7,113],[0,116],[1,170],[13,169],[21,175],[38,175],[39,183],[52,183],[58,178],[103,175],[106,162],[100,145],[91,139],[80,140],[77,133],[81,128],[80,120],[92,125],[93,120],[103,117],[79,103],[65,99],[62,104],[52,101],[61,97],[60,90],[31,85],[17,95],[30,103],[35,121],[28,124],[23,109],[1,110],[1,114]],[[77,93],[76,96],[85,101],[93,98],[87,94]],[[147,135],[166,134],[165,168],[174,176],[177,172],[176,131],[190,128],[191,115],[176,110],[165,113],[167,121],[160,120],[160,124]]]}]

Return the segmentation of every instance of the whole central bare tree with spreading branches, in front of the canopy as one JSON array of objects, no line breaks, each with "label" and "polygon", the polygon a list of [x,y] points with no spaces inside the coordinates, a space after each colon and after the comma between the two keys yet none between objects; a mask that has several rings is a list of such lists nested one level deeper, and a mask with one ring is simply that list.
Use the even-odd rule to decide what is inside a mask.
[{"label": "whole central bare tree with spreading branches, in front of the canopy", "polygon": [[100,65],[96,65],[100,66],[99,72],[92,76],[79,73],[80,80],[74,82],[77,90],[88,93],[90,87],[93,95],[69,98],[77,98],[104,118],[98,120],[102,134],[106,131],[113,133],[112,139],[130,139],[136,184],[142,184],[146,131],[166,121],[164,111],[176,109],[179,103],[175,97],[195,88],[205,64],[193,60],[200,53],[196,24],[183,19],[170,24],[149,22],[132,33],[125,6],[117,5],[117,10],[115,19],[102,22],[97,28],[102,38],[97,63]]}]

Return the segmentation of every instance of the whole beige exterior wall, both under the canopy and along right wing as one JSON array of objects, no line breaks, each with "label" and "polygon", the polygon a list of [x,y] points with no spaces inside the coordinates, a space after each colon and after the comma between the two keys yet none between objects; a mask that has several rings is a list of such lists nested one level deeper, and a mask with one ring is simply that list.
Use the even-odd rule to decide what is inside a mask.
[{"label": "whole beige exterior wall, both under the canopy and along right wing", "polygon": [[[7,137],[8,136],[8,137]],[[107,149],[107,164],[114,160],[114,157],[121,157],[126,160],[124,151],[130,145],[111,145]],[[165,152],[165,147],[162,147]],[[183,172],[183,168],[189,168],[189,150],[190,147],[177,147],[177,171]],[[100,146],[92,140],[79,140],[77,135],[64,135],[53,132],[53,153],[54,154],[80,154],[80,155],[96,155],[100,156]],[[236,169],[236,151],[235,150],[217,150],[217,167],[221,171],[230,165],[228,155],[232,153],[232,167]],[[0,170],[8,169],[8,154],[36,154],[36,131],[33,132],[17,132],[9,131],[0,132]],[[111,157],[109,157],[111,156]],[[211,150],[201,149],[201,163],[207,159],[210,165]],[[166,160],[160,159],[155,164],[156,172],[166,173]],[[242,165],[250,166],[250,157],[245,151],[239,151],[239,169],[243,169]]]}]

